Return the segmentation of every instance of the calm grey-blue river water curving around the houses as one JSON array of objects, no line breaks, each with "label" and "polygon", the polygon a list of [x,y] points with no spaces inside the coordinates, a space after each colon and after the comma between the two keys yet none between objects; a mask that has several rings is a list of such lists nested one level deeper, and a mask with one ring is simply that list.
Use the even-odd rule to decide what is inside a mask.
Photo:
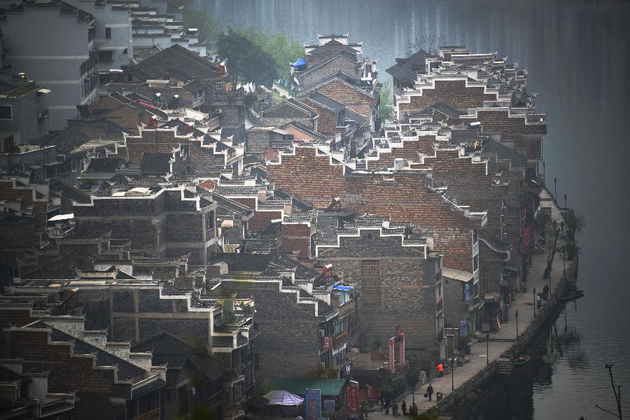
[{"label": "calm grey-blue river water curving around the houses", "polygon": [[[473,52],[498,50],[528,69],[537,109],[549,113],[545,178],[587,220],[580,288],[567,311],[580,339],[535,364],[514,419],[613,419],[605,363],[614,363],[630,416],[630,3],[626,1],[192,0],[232,25],[314,43],[317,34],[363,41],[381,80],[414,37],[440,36]],[[542,172],[542,165],[541,165]],[[563,204],[563,199],[559,200]],[[564,328],[563,315],[559,331]],[[549,344],[547,344],[549,345]],[[505,414],[497,419],[507,418]]]}]

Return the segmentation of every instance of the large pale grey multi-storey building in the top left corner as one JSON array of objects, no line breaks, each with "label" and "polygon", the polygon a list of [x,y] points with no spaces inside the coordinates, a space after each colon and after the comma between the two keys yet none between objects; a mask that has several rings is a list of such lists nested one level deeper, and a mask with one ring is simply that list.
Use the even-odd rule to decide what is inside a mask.
[{"label": "large pale grey multi-storey building in the top left corner", "polygon": [[0,18],[8,51],[4,61],[48,86],[48,128],[63,130],[66,120],[76,116],[78,104],[98,98],[94,16],[62,0],[50,0],[3,8]]}]

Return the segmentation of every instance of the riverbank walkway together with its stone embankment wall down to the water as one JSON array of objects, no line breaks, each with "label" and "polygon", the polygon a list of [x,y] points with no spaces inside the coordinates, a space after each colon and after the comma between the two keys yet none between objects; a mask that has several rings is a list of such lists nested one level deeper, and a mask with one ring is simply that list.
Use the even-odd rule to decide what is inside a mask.
[{"label": "riverbank walkway together with its stone embankment wall down to the water", "polygon": [[[558,221],[559,223],[563,218],[562,211],[547,190],[542,190],[540,199],[541,206],[550,209],[552,221]],[[477,339],[473,340],[470,345],[470,363],[456,367],[452,375],[449,372],[442,378],[428,379],[426,384],[416,389],[415,395],[412,396],[411,393],[407,393],[403,397],[398,398],[397,401],[405,400],[407,405],[409,405],[412,400],[415,400],[416,405],[419,407],[419,412],[428,411],[445,414],[456,407],[459,402],[463,402],[467,398],[468,393],[491,379],[496,374],[500,360],[509,360],[501,358],[501,356],[507,354],[519,356],[521,353],[524,353],[527,346],[535,339],[542,325],[547,322],[549,316],[555,311],[564,293],[566,278],[572,276],[577,270],[577,260],[573,263],[566,263],[566,276],[563,275],[563,261],[559,255],[556,255],[556,258],[554,258],[549,279],[543,278],[546,267],[547,253],[533,255],[532,265],[529,267],[527,292],[519,293],[516,299],[512,301],[510,321],[503,323],[500,331],[491,332],[489,342],[486,343],[485,339],[482,342],[479,342]],[[547,304],[540,309],[535,309],[533,290],[535,289],[538,293],[542,291],[545,285],[550,285],[552,293]],[[519,312],[518,340],[517,322],[514,318],[516,311]],[[479,335],[478,337],[485,337],[485,335]],[[433,386],[435,393],[440,392],[444,395],[444,398],[439,403],[437,403],[435,395],[433,395],[432,401],[423,396],[429,382]],[[378,420],[388,418],[388,416],[379,412],[374,412],[370,417]]]}]

